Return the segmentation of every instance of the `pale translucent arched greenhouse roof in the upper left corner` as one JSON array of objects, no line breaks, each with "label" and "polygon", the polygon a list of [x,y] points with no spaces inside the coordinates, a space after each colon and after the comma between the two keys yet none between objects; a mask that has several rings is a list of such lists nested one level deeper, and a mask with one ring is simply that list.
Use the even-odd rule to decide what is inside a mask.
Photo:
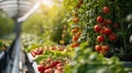
[{"label": "pale translucent arched greenhouse roof in the upper left corner", "polygon": [[28,14],[38,0],[0,0],[0,11],[11,17],[21,17]]}]

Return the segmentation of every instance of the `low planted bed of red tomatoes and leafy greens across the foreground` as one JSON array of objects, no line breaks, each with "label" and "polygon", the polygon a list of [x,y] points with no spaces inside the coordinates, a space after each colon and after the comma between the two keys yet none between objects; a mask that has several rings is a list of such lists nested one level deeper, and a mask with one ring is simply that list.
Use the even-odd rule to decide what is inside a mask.
[{"label": "low planted bed of red tomatoes and leafy greens across the foreground", "polygon": [[40,73],[129,73],[131,71],[124,68],[117,57],[106,59],[103,54],[87,48],[87,45],[88,42],[82,42],[73,49],[70,46],[43,46],[43,44],[30,42],[23,45],[23,48],[32,60],[30,62],[36,63],[35,69]]}]

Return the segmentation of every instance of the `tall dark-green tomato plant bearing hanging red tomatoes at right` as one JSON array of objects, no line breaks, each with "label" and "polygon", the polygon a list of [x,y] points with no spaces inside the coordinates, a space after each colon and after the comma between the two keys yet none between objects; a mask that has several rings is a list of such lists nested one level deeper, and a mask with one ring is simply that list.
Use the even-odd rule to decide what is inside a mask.
[{"label": "tall dark-green tomato plant bearing hanging red tomatoes at right", "polygon": [[[116,54],[120,60],[132,60],[130,57],[132,54],[127,54],[132,51],[129,40],[132,32],[130,29],[131,22],[127,21],[127,16],[132,12],[130,10],[132,5],[128,2],[132,1],[84,0],[82,4],[79,4],[79,0],[65,0],[64,2],[69,12],[69,19],[72,19],[73,11],[73,16],[79,17],[79,22],[76,23],[81,31],[81,35],[78,38],[79,44],[88,41],[88,47],[92,47],[92,50],[95,50],[96,45],[109,46],[109,50],[101,51],[102,53],[105,52],[105,57]],[[75,24],[69,22],[69,25]],[[128,28],[128,25],[130,25],[130,28]],[[100,35],[103,37],[100,38]],[[129,49],[127,50],[128,47]],[[128,58],[123,58],[123,56]]]}]

